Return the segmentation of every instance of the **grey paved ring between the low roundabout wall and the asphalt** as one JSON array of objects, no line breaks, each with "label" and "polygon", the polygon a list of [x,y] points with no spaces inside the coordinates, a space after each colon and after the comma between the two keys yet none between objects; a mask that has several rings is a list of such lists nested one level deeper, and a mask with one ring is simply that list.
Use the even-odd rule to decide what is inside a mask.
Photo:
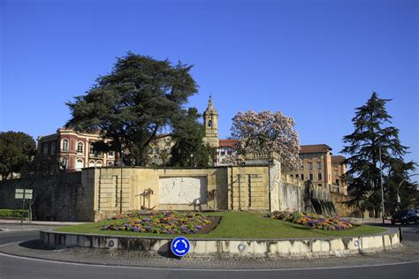
[{"label": "grey paved ring between the low roundabout wall and the asphalt", "polygon": [[135,251],[115,251],[92,248],[60,248],[42,245],[39,240],[0,246],[0,253],[23,257],[143,268],[189,268],[189,269],[259,269],[259,268],[337,268],[382,264],[419,263],[419,243],[405,241],[399,249],[381,253],[365,253],[344,257],[284,260],[219,260],[219,259],[173,259],[161,255],[149,255]]}]

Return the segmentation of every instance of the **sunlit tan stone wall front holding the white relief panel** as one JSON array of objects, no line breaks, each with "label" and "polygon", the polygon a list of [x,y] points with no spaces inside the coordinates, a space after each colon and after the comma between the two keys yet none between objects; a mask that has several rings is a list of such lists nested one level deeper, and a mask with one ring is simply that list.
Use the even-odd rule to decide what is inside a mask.
[{"label": "sunlit tan stone wall front holding the white relief panel", "polygon": [[[270,210],[268,166],[100,168],[83,172],[94,179],[89,183],[95,189],[95,220],[141,208]],[[141,194],[148,190],[152,193],[144,198]]]}]

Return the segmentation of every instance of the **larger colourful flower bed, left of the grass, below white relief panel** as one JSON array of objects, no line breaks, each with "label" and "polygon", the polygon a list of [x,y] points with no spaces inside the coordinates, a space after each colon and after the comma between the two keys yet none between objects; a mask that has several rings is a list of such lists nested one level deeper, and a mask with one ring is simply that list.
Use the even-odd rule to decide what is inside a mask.
[{"label": "larger colourful flower bed, left of the grass, below white relief panel", "polygon": [[194,212],[136,211],[115,215],[113,222],[101,230],[126,230],[158,234],[208,233],[220,218]]}]

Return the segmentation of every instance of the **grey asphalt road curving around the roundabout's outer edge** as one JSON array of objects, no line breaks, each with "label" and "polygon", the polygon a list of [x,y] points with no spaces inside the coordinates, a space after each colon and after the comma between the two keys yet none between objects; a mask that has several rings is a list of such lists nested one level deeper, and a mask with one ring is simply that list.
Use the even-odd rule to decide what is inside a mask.
[{"label": "grey asphalt road curving around the roundabout's outer edge", "polygon": [[[41,228],[39,228],[41,229]],[[418,240],[415,227],[404,238]],[[417,228],[419,229],[419,228]],[[409,231],[409,232],[408,232]],[[38,238],[38,230],[0,232],[0,245]],[[345,258],[342,258],[344,261]],[[343,265],[343,264],[342,264]],[[419,278],[419,264],[354,268],[310,268],[278,270],[202,270],[168,268],[126,268],[35,260],[0,253],[0,278]]]}]

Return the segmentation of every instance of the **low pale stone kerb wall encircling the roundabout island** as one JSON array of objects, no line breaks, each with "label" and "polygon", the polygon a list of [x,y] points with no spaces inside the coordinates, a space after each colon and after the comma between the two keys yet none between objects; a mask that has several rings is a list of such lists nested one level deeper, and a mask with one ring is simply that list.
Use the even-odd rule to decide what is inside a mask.
[{"label": "low pale stone kerb wall encircling the roundabout island", "polygon": [[[109,235],[86,235],[44,230],[40,238],[46,245],[90,247],[110,250],[134,250],[150,255],[169,256],[172,238],[139,238]],[[186,258],[214,257],[221,259],[243,258],[310,258],[369,253],[400,247],[398,232],[346,238],[308,239],[189,239],[191,250]],[[241,248],[241,251],[240,251]]]}]

